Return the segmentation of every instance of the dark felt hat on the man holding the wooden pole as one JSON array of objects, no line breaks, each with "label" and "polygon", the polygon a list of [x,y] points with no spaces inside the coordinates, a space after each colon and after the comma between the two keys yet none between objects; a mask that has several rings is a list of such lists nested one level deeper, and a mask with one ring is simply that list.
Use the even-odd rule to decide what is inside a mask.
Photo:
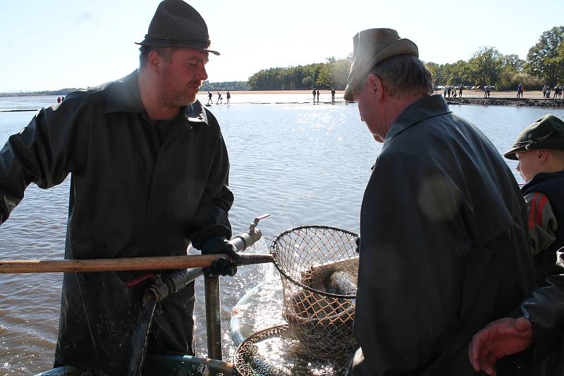
[{"label": "dark felt hat on the man holding the wooden pole", "polygon": [[192,6],[182,0],[164,0],[157,7],[142,46],[186,47],[219,55],[208,49],[207,25]]}]

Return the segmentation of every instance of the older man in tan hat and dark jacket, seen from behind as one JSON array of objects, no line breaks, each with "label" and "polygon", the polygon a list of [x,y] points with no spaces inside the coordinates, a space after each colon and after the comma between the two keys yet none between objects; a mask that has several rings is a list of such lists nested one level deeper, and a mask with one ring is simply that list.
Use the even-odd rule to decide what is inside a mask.
[{"label": "older man in tan hat and dark jacket, seen from behind", "polygon": [[364,192],[351,375],[474,375],[472,334],[533,284],[527,208],[494,145],[432,95],[415,43],[353,38],[345,99],[384,142]]}]

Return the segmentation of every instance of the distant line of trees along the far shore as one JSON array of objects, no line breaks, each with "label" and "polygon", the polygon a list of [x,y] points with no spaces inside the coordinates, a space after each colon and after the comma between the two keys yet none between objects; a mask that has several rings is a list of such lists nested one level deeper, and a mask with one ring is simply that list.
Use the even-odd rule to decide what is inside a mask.
[{"label": "distant line of trees along the far shore", "polygon": [[[325,63],[306,66],[264,69],[250,76],[247,82],[209,83],[201,91],[226,90],[344,90],[353,56],[328,58]],[[529,49],[527,59],[516,54],[503,55],[496,47],[482,47],[468,60],[455,63],[425,63],[433,74],[435,86],[495,86],[498,90],[517,90],[523,83],[526,90],[539,90],[543,85],[564,84],[564,26],[542,33],[539,42]],[[42,92],[0,93],[1,96],[67,95],[79,89]]]}]

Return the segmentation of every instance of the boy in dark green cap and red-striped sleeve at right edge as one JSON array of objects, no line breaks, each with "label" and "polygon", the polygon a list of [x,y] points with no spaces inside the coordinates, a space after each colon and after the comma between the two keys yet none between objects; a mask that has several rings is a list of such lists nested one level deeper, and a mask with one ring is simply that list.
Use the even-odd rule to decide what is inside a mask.
[{"label": "boy in dark green cap and red-striped sleeve at right edge", "polygon": [[529,206],[529,234],[537,285],[562,274],[556,250],[564,246],[564,121],[545,115],[517,137],[505,158],[518,160],[521,188]]}]

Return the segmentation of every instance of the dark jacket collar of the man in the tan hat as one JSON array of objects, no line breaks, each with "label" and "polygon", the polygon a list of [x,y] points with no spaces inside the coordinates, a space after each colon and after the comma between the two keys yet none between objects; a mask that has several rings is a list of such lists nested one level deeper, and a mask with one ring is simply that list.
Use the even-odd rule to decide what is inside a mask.
[{"label": "dark jacket collar of the man in the tan hat", "polygon": [[388,134],[386,134],[384,145],[390,142],[396,135],[410,128],[410,126],[414,126],[434,116],[450,114],[450,112],[452,111],[448,109],[448,104],[446,104],[441,95],[436,94],[422,97],[417,102],[407,106],[398,116],[398,119],[393,122]]}]

